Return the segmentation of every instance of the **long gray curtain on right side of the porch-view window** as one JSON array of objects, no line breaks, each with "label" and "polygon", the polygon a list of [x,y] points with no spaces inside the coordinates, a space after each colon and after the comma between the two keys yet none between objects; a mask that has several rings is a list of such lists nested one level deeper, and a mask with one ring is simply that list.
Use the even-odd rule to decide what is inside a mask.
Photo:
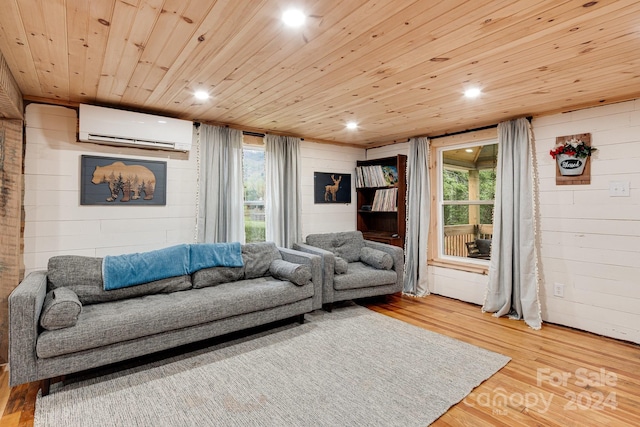
[{"label": "long gray curtain on right side of the porch-view window", "polygon": [[493,242],[482,311],[524,319],[540,329],[533,172],[529,121],[500,123]]}]

